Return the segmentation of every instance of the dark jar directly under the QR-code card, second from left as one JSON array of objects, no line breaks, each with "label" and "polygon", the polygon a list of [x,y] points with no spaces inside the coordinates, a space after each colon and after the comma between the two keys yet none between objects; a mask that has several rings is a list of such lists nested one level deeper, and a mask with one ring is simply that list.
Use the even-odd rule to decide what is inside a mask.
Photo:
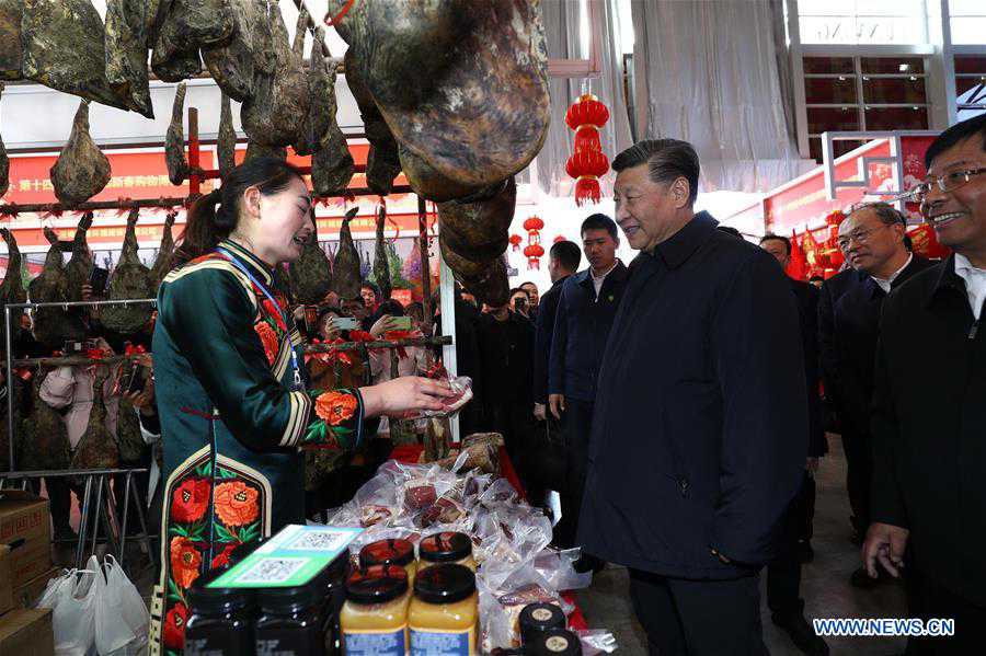
[{"label": "dark jar directly under the QR-code card, second from left", "polygon": [[321,580],[257,592],[261,615],[254,632],[257,656],[335,656],[334,618],[326,613]]}]

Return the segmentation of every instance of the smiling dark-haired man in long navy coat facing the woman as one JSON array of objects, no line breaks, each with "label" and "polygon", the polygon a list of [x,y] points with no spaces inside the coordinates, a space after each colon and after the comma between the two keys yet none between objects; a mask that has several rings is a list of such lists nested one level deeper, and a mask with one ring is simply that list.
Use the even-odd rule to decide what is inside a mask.
[{"label": "smiling dark-haired man in long navy coat facing the woman", "polygon": [[651,654],[761,653],[758,573],[807,453],[794,297],[769,254],[693,212],[689,143],[641,141],[612,166],[641,253],[599,371],[578,539],[629,567]]}]

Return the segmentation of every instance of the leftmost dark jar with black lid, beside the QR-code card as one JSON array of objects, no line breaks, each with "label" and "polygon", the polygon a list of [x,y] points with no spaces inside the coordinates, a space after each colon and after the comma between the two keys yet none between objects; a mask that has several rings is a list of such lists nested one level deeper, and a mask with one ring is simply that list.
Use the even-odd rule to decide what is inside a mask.
[{"label": "leftmost dark jar with black lid, beside the QR-code card", "polygon": [[253,652],[253,591],[208,587],[221,574],[222,571],[214,571],[200,576],[187,592],[185,656],[236,656]]}]

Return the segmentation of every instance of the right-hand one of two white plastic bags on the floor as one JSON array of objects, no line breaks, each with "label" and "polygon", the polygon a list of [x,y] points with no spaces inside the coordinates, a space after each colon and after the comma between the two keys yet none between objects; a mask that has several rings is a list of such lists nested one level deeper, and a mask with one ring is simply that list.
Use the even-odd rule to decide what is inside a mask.
[{"label": "right-hand one of two white plastic bags on the floor", "polygon": [[100,656],[137,654],[147,644],[147,607],[112,555],[106,556],[102,572],[106,580],[95,603],[96,651]]}]

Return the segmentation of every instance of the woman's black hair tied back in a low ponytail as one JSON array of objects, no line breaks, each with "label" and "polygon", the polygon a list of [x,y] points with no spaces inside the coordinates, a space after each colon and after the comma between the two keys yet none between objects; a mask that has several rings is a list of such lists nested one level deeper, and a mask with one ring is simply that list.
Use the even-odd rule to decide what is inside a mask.
[{"label": "woman's black hair tied back in a low ponytail", "polygon": [[188,220],[175,249],[176,261],[183,264],[199,257],[230,235],[249,187],[272,196],[286,189],[295,179],[303,180],[297,169],[276,158],[253,158],[233,169],[222,186],[195,200],[188,209]]}]

